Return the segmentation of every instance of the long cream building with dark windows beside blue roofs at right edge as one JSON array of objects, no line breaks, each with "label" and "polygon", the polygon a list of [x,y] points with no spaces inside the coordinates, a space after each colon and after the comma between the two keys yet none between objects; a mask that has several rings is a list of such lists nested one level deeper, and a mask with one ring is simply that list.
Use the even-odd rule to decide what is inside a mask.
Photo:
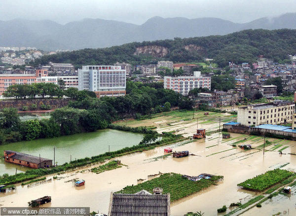
[{"label": "long cream building with dark windows beside blue roofs at right edge", "polygon": [[268,104],[249,104],[238,108],[237,122],[246,126],[292,123],[294,113],[295,103],[291,101],[275,100]]}]

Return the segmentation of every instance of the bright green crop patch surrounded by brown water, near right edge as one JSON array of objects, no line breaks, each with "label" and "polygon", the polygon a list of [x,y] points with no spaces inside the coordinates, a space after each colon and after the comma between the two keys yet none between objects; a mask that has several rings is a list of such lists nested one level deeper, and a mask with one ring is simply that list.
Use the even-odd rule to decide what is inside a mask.
[{"label": "bright green crop patch surrounded by brown water, near right edge", "polygon": [[260,174],[254,178],[239,183],[238,186],[247,190],[264,191],[268,187],[273,186],[274,184],[279,183],[292,175],[293,172],[276,169],[267,171],[264,174]]}]

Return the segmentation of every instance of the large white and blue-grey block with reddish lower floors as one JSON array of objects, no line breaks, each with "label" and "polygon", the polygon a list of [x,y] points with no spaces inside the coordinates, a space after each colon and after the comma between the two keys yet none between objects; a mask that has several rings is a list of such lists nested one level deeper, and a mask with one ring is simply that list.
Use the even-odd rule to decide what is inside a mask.
[{"label": "large white and blue-grey block with reddish lower floors", "polygon": [[121,66],[87,65],[78,69],[78,89],[90,90],[101,96],[125,95],[126,72]]}]

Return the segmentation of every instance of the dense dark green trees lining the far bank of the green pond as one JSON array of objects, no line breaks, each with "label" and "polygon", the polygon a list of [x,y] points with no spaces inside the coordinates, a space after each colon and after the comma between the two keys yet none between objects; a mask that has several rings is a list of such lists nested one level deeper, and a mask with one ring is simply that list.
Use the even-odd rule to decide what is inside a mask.
[{"label": "dense dark green trees lining the far bank of the green pond", "polygon": [[50,119],[21,122],[17,109],[4,108],[0,111],[0,144],[95,131],[107,126],[108,121],[95,109],[64,107],[52,112]]}]

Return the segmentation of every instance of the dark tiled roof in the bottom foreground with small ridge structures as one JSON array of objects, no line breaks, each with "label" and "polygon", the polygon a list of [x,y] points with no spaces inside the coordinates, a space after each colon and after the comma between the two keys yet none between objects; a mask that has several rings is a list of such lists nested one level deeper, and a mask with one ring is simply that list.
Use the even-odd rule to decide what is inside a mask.
[{"label": "dark tiled roof in the bottom foreground with small ridge structures", "polygon": [[141,190],[135,194],[111,192],[109,216],[170,216],[170,193],[155,188],[151,194]]}]

